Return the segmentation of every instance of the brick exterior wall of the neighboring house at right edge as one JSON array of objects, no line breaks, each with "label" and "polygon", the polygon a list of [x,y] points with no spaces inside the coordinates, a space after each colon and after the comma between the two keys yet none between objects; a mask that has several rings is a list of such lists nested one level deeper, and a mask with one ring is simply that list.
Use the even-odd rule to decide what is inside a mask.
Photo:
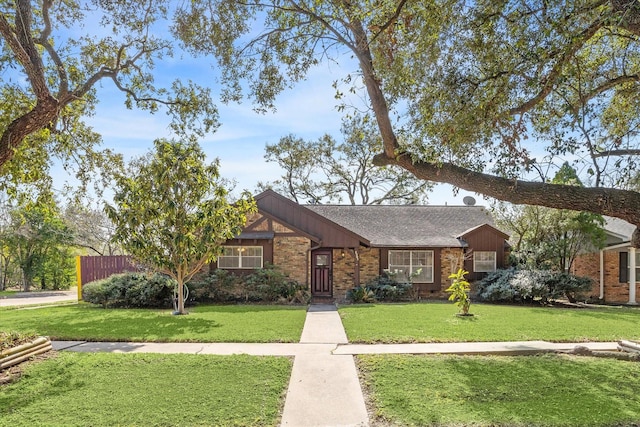
[{"label": "brick exterior wall of the neighboring house at right edge", "polygon": [[[604,251],[604,301],[608,303],[629,302],[629,285],[620,283],[620,253]],[[591,277],[594,281],[591,296],[600,296],[600,254],[582,254],[573,263],[572,273]],[[640,279],[638,277],[637,279]],[[636,280],[637,280],[636,279]],[[640,282],[636,281],[636,295],[640,297]]]}]

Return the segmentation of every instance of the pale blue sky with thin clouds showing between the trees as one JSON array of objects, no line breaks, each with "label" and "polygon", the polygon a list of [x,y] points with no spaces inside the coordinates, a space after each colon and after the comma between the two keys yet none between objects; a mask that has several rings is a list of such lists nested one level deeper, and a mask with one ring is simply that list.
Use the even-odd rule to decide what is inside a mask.
[{"label": "pale blue sky with thin clouds showing between the trees", "polygon": [[[350,68],[324,63],[312,69],[305,81],[279,96],[274,113],[255,113],[249,101],[229,105],[218,103],[220,127],[200,140],[209,160],[216,157],[220,159],[222,176],[235,180],[238,191],[253,191],[259,181],[273,181],[281,174],[278,165],[264,160],[266,144],[277,143],[288,134],[309,140],[325,133],[340,138],[342,113],[337,111],[332,83],[356,71],[356,64],[352,60],[347,59],[344,64]],[[216,72],[208,59],[196,59],[179,53],[157,66],[158,82],[168,85],[177,77],[190,78],[212,87],[216,92]],[[124,95],[110,81],[100,83],[98,97],[100,103],[96,114],[87,118],[87,123],[102,135],[104,148],[111,148],[128,160],[148,152],[153,140],[171,137],[164,112],[151,115],[145,111],[126,109]],[[351,101],[363,102],[361,98]],[[54,177],[56,186],[61,188],[66,175],[56,168]],[[463,197],[469,195],[474,196],[480,204],[488,204],[481,196],[466,191],[454,196],[452,187],[448,185],[437,186],[429,196],[429,204],[459,205]]]}]

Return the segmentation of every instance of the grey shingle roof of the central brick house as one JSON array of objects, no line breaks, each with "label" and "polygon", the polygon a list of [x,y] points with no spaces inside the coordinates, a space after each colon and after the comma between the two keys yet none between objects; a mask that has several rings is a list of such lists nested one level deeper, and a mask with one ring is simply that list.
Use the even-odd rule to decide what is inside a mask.
[{"label": "grey shingle roof of the central brick house", "polygon": [[330,221],[357,233],[372,246],[462,247],[459,236],[489,224],[490,213],[481,206],[418,205],[305,205]]}]

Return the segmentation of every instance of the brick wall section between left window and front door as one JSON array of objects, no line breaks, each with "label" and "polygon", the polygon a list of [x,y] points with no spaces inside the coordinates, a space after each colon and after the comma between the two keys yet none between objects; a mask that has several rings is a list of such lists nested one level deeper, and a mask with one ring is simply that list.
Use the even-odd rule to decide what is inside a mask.
[{"label": "brick wall section between left window and front door", "polygon": [[293,280],[308,285],[310,247],[311,241],[306,237],[276,235],[273,238],[273,264]]}]

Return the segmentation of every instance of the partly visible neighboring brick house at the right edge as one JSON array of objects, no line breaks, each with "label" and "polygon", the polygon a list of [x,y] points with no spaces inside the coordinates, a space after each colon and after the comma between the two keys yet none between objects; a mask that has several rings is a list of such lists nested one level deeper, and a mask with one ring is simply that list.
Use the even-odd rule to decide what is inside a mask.
[{"label": "partly visible neighboring brick house at the right edge", "polygon": [[[579,255],[572,273],[591,277],[595,282],[593,295],[605,302],[636,304],[640,250],[630,244],[636,227],[619,218],[605,217],[605,220],[605,247]],[[629,286],[630,282],[635,286]]]}]

